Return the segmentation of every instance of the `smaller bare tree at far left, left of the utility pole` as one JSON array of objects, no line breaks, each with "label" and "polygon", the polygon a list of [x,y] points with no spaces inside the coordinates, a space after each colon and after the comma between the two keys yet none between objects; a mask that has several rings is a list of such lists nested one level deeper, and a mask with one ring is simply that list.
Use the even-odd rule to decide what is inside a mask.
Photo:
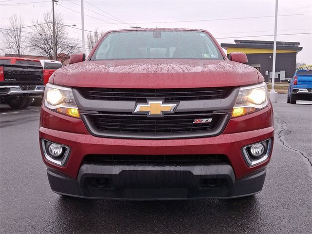
[{"label": "smaller bare tree at far left, left of the utility pole", "polygon": [[22,32],[23,27],[24,20],[17,15],[13,15],[9,19],[9,26],[2,32],[7,47],[5,50],[10,51],[11,54],[15,54],[18,57],[21,57],[26,48],[24,46],[26,36]]}]

